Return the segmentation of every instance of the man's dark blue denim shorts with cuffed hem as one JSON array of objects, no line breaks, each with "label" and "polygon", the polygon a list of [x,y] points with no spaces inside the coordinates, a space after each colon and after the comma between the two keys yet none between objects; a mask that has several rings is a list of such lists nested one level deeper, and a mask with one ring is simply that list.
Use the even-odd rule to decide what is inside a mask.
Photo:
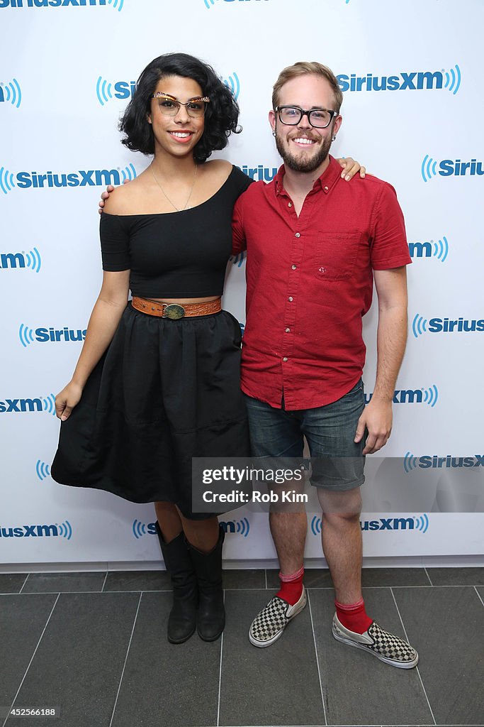
[{"label": "man's dark blue denim shorts with cuffed hem", "polygon": [[245,395],[253,457],[303,457],[304,440],[311,454],[311,484],[334,491],[364,483],[364,443],[353,440],[364,391],[361,379],[342,398],[315,409],[286,411]]}]

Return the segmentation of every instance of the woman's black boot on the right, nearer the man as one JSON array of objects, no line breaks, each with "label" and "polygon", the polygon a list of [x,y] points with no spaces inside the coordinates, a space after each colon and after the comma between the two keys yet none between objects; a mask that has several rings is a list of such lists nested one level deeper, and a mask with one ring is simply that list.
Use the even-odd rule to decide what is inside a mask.
[{"label": "woman's black boot on the right, nearer the man", "polygon": [[220,528],[218,542],[210,553],[202,553],[188,543],[198,582],[197,630],[204,641],[215,641],[225,626],[222,590],[222,545],[225,532]]}]

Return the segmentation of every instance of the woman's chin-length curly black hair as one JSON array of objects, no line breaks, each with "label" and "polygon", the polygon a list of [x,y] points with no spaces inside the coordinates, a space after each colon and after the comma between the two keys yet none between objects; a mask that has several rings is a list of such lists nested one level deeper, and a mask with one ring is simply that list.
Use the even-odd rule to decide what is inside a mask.
[{"label": "woman's chin-length curly black hair", "polygon": [[155,138],[147,114],[151,111],[152,94],[164,76],[193,79],[202,89],[202,95],[210,97],[202,138],[193,150],[194,161],[198,164],[206,161],[213,151],[225,148],[230,134],[242,131],[237,124],[237,100],[213,68],[186,53],[167,53],[152,60],[142,71],[134,95],[120,120],[119,129],[125,134],[122,143],[128,149],[143,154],[155,153]]}]

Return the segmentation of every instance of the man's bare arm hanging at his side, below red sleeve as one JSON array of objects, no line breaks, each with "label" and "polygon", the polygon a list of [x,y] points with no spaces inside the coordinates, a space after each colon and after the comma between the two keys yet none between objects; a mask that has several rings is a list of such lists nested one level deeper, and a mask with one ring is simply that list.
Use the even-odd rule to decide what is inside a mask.
[{"label": "man's bare arm hanging at his side, below red sleeve", "polygon": [[368,430],[363,454],[381,449],[392,431],[393,393],[406,345],[406,266],[374,270],[374,283],[378,296],[377,379],[356,429],[356,442],[364,436],[365,427]]}]

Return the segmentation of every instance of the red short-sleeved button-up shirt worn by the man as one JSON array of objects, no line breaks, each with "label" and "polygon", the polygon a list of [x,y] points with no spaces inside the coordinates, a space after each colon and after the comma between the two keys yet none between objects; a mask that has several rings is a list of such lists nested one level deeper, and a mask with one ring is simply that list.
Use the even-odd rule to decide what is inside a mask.
[{"label": "red short-sleeved button-up shirt worn by the man", "polygon": [[350,182],[330,157],[299,217],[282,180],[255,182],[234,208],[234,254],[247,248],[242,390],[276,408],[337,401],[361,377],[361,318],[373,270],[411,262],[395,190]]}]

